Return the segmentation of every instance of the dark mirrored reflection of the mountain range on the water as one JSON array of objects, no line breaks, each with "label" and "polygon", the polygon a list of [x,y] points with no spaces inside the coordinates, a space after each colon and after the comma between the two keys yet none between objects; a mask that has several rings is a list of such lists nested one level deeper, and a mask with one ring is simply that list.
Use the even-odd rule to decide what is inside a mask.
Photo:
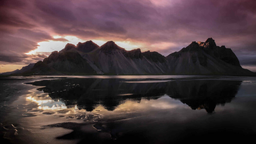
[{"label": "dark mirrored reflection of the mountain range on the water", "polygon": [[166,94],[187,104],[191,109],[205,109],[211,113],[216,105],[230,102],[242,82],[212,79],[147,80],[154,82],[140,83],[141,79],[64,78],[27,84],[45,86],[37,90],[48,93],[51,99],[59,99],[67,108],[77,106],[78,109],[92,111],[101,105],[113,111],[127,99],[140,102],[142,98],[157,99]]}]

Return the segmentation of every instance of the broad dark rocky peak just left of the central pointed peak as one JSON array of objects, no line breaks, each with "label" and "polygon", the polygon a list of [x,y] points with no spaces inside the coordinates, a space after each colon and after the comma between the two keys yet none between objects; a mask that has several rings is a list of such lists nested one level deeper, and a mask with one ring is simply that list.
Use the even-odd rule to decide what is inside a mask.
[{"label": "broad dark rocky peak just left of the central pointed peak", "polygon": [[89,41],[86,41],[84,43],[81,43],[79,42],[77,44],[77,49],[81,52],[84,52],[84,53],[89,53],[91,52],[92,50],[98,48],[100,46],[98,46],[97,44],[93,43],[91,40]]}]

